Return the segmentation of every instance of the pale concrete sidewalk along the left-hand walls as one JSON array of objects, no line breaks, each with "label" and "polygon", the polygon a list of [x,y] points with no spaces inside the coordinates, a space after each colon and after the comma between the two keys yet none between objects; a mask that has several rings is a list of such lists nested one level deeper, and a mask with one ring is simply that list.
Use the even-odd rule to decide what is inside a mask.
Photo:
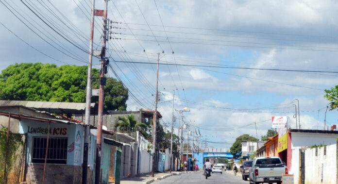
[{"label": "pale concrete sidewalk along the left-hand walls", "polygon": [[[165,179],[172,175],[180,175],[180,174],[192,173],[192,172],[193,171],[188,171],[188,172],[172,171],[171,173],[170,172],[163,172],[163,173],[159,172],[159,173],[155,173],[154,177],[152,177],[151,173],[148,173],[148,174],[142,174],[138,176],[123,178],[121,179],[120,184],[151,184],[152,182],[156,180]],[[199,171],[196,171],[196,172],[199,172]],[[110,184],[114,184],[114,183],[110,183]]]}]

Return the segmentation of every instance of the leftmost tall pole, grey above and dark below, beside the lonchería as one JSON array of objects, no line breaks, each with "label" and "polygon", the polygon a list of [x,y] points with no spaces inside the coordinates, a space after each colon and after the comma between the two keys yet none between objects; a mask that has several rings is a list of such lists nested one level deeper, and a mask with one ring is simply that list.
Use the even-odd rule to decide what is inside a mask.
[{"label": "leftmost tall pole, grey above and dark below, beside the loncher\u00eda", "polygon": [[90,99],[92,95],[91,75],[93,61],[93,37],[94,37],[94,16],[95,16],[95,0],[92,0],[92,9],[90,14],[90,36],[89,36],[89,56],[88,56],[88,73],[87,73],[87,91],[85,97],[85,115],[84,115],[84,162],[82,165],[82,184],[87,183],[88,168],[88,148],[89,148],[89,121],[90,121]]}]

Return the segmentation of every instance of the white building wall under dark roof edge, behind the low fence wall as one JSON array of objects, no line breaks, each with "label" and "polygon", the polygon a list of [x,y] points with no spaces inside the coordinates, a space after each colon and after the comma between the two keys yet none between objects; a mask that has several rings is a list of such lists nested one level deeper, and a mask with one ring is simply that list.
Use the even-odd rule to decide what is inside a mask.
[{"label": "white building wall under dark roof edge, behind the low fence wall", "polygon": [[[336,145],[338,134],[319,134],[319,133],[291,133],[291,169],[290,174],[294,175],[295,184],[298,183],[299,179],[299,149],[306,149],[313,145]],[[306,155],[305,155],[306,156]]]}]

